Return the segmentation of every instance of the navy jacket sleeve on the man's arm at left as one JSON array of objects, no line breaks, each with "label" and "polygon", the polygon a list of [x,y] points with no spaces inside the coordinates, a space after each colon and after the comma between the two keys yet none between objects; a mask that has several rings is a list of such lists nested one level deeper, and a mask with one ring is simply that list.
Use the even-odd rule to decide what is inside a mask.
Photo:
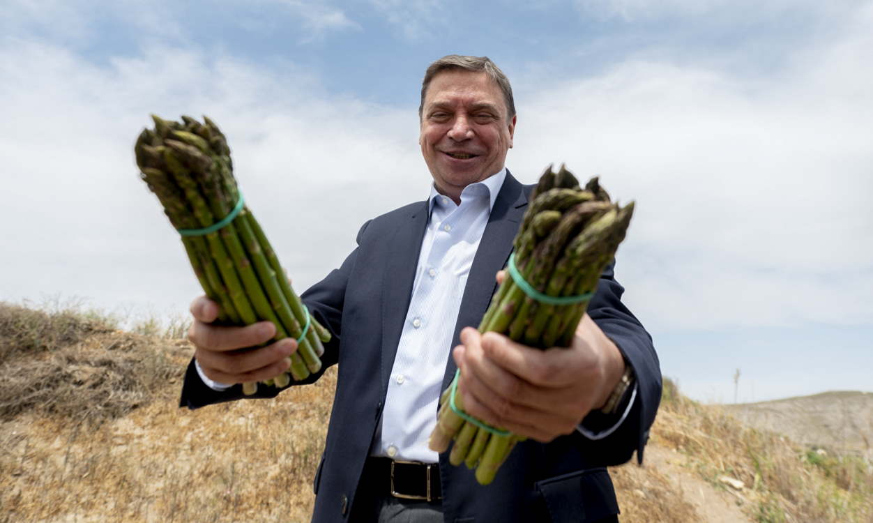
[{"label": "navy jacket sleeve on the man's arm at left", "polygon": [[[369,222],[364,224],[361,227],[361,231],[358,232],[358,244],[361,243],[361,237],[368,224]],[[324,327],[327,327],[332,337],[331,341],[325,344],[325,353],[321,356],[321,370],[313,375],[309,375],[305,380],[292,382],[289,384],[289,387],[315,382],[324,374],[327,368],[339,360],[342,305],[346,296],[346,284],[349,274],[354,268],[357,252],[357,249],[352,251],[342,265],[340,265],[339,269],[334,269],[325,279],[322,279],[300,295],[300,299],[309,308],[313,318],[318,320]],[[210,389],[209,386],[203,383],[200,376],[197,375],[194,358],[192,358],[182,382],[182,397],[179,400],[179,406],[198,409],[205,405],[230,402],[238,399],[271,398],[278,395],[281,390],[277,387],[266,386],[263,383],[258,384],[258,392],[251,396],[245,396],[242,385],[238,383],[230,387],[230,389],[221,391]]]}]

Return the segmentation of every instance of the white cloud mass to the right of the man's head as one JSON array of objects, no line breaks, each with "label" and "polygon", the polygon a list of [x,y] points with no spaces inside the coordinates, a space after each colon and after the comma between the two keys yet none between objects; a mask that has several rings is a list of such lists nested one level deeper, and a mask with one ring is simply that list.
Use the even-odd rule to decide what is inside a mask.
[{"label": "white cloud mass to the right of the man's head", "polygon": [[531,93],[512,162],[636,198],[618,275],[657,330],[867,324],[871,15],[768,79],[629,61]]}]

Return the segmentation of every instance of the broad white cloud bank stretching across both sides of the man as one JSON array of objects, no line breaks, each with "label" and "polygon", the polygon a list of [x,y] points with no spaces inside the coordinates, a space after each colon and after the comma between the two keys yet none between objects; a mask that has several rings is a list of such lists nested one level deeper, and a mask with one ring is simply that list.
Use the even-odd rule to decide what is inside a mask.
[{"label": "broad white cloud bank stretching across both sides of the man", "polygon": [[[840,38],[796,50],[766,78],[668,58],[546,86],[513,78],[509,166],[533,182],[546,162],[566,161],[637,200],[618,276],[653,330],[869,324],[870,22],[869,7],[854,11],[835,26]],[[61,292],[184,310],[196,280],[131,151],[152,112],[205,113],[223,127],[300,288],[340,263],[364,220],[426,196],[415,107],[324,94],[293,63],[150,45],[98,66],[38,42],[0,43],[12,122],[0,128],[0,298]]]}]

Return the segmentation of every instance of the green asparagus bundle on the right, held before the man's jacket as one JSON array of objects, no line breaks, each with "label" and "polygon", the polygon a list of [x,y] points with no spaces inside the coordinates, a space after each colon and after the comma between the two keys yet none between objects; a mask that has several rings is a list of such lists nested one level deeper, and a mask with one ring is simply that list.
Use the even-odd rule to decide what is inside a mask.
[{"label": "green asparagus bundle on the right, held before the man's jacket", "polygon": [[[515,237],[509,275],[491,299],[479,331],[507,335],[534,348],[569,347],[601,272],[624,239],[634,203],[610,203],[598,179],[580,189],[563,166],[540,177]],[[476,468],[488,485],[519,442],[511,432],[464,413],[455,376],[440,398],[430,449],[447,451],[452,465]]]}]

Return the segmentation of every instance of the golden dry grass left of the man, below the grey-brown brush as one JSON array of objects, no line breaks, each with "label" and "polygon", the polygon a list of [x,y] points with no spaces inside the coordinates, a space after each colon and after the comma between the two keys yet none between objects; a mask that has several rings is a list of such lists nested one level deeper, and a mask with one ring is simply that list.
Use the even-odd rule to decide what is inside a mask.
[{"label": "golden dry grass left of the man, below the grey-brown brush", "polygon": [[196,411],[152,403],[96,430],[24,416],[3,427],[0,506],[9,521],[307,521],[334,380]]}]

